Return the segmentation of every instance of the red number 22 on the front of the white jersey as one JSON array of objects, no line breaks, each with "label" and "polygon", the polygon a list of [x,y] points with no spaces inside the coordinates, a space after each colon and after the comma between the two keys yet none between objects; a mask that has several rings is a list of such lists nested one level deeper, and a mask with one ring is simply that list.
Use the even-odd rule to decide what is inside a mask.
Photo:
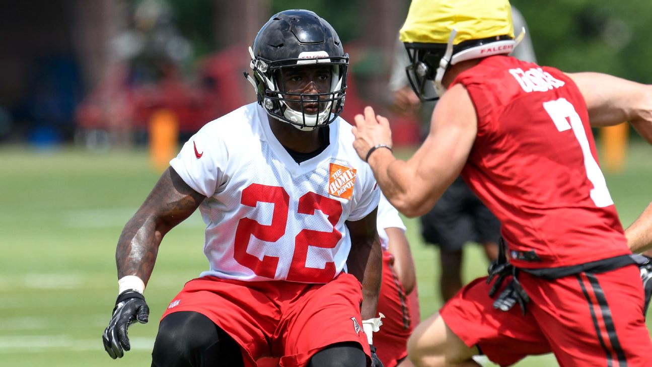
[{"label": "red number 22 on the front of the white jersey", "polygon": [[[248,207],[256,207],[256,203],[273,203],[274,211],[272,222],[269,226],[259,224],[256,220],[242,218],[235,230],[235,244],[233,256],[244,267],[248,267],[258,276],[274,278],[278,267],[278,257],[263,256],[263,259],[249,254],[247,248],[249,239],[253,235],[260,241],[276,242],[285,235],[288,222],[289,196],[280,186],[267,186],[263,184],[250,184],[243,190],[241,203]],[[321,248],[334,248],[342,233],[335,229],[342,216],[342,203],[335,199],[326,198],[314,192],[307,192],[299,198],[299,214],[314,215],[319,210],[327,216],[328,222],[333,226],[333,231],[314,231],[303,229],[295,236],[294,254],[289,267],[287,280],[291,282],[325,283],[335,276],[335,263],[326,262],[324,269],[306,267],[308,246]]]}]

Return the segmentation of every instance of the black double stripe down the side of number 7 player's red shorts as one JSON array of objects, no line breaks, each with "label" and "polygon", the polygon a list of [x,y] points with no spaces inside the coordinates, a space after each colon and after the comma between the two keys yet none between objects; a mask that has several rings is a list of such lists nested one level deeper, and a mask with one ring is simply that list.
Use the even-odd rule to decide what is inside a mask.
[{"label": "black double stripe down the side of number 7 player's red shorts", "polygon": [[[612,312],[607,304],[604,291],[602,291],[598,279],[595,275],[587,274],[585,272],[577,274],[576,276],[580,282],[580,287],[582,287],[582,293],[584,293],[584,297],[586,297],[587,302],[589,303],[593,326],[595,327],[595,332],[598,336],[600,345],[606,353],[608,367],[613,366],[614,355],[617,357],[617,366],[627,367],[627,357],[625,357],[625,351],[623,351],[618,340],[618,335],[616,334],[614,327],[614,319],[612,319]],[[593,292],[593,297],[591,297],[591,294],[589,293],[589,287]],[[599,319],[601,319],[601,323],[599,322]],[[609,339],[611,347],[606,345],[606,342],[602,337],[605,334]]]}]

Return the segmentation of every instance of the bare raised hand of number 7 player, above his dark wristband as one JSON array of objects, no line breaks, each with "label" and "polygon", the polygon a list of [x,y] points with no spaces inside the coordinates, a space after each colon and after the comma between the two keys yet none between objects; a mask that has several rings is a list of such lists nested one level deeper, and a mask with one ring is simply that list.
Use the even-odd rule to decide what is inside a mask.
[{"label": "bare raised hand of number 7 player, above his dark wristband", "polygon": [[364,115],[355,115],[353,127],[353,148],[362,160],[366,160],[367,153],[378,144],[392,146],[392,130],[389,121],[381,115],[376,115],[374,109],[366,106]]}]

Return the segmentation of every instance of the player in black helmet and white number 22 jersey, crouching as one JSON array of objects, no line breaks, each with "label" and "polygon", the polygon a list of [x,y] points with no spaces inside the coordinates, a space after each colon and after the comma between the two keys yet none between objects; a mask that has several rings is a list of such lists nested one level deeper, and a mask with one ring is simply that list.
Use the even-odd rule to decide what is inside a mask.
[{"label": "player in black helmet and white number 22 jersey, crouching", "polygon": [[308,10],[275,14],[250,54],[257,102],[192,136],[121,234],[104,348],[130,349],[158,246],[200,208],[210,269],[164,312],[152,366],[382,366],[380,190],[338,117],[348,54]]}]

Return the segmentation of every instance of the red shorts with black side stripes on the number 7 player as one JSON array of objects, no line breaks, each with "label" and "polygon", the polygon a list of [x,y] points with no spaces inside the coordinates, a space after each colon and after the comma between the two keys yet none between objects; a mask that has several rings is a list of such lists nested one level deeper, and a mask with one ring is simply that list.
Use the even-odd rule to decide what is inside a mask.
[{"label": "red shorts with black side stripes on the number 7 player", "polygon": [[636,265],[556,280],[520,272],[518,280],[531,298],[526,316],[518,304],[508,312],[494,309],[486,278],[464,287],[441,316],[466,345],[501,366],[550,352],[562,367],[652,366]]}]

